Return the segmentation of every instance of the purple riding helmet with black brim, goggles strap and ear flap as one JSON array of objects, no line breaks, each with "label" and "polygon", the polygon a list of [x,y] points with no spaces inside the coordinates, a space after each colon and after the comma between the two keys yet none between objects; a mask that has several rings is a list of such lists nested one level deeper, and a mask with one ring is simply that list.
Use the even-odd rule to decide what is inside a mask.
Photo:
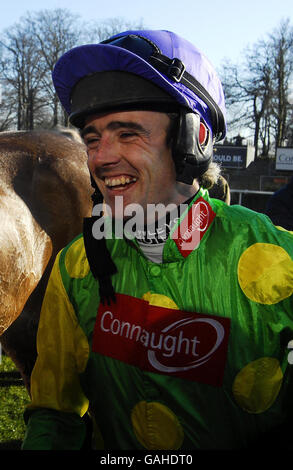
[{"label": "purple riding helmet with black brim, goggles strap and ear flap", "polygon": [[57,62],[53,83],[78,128],[90,114],[111,110],[176,113],[172,154],[177,180],[187,184],[206,171],[213,143],[226,134],[224,93],[213,66],[169,31],[125,31],[75,47]]}]

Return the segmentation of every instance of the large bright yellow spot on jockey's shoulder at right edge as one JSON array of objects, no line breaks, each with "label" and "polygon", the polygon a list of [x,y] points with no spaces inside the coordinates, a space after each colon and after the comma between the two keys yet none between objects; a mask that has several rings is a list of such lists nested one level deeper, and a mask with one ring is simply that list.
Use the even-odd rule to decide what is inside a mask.
[{"label": "large bright yellow spot on jockey's shoulder at right edge", "polygon": [[278,245],[255,243],[240,257],[238,280],[250,300],[276,304],[293,292],[293,261]]}]

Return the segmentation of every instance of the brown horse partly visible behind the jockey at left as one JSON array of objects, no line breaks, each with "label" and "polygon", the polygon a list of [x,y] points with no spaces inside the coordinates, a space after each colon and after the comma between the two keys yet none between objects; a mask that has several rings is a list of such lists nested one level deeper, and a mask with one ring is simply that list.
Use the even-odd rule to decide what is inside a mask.
[{"label": "brown horse partly visible behind the jockey at left", "polygon": [[0,133],[0,341],[28,389],[48,275],[91,212],[86,161],[60,131]]}]

